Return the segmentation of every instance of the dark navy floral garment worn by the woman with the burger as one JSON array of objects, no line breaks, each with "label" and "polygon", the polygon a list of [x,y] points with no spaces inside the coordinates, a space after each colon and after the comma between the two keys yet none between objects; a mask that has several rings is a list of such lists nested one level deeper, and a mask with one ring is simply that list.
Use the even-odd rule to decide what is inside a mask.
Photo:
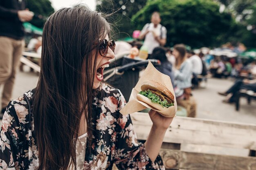
[{"label": "dark navy floral garment worn by the woman with the burger", "polygon": [[[102,97],[95,97],[92,146],[86,144],[84,170],[164,170],[158,155],[152,162],[144,144],[137,142],[130,115],[123,116],[124,96],[118,89],[101,84]],[[7,106],[0,131],[0,169],[36,170],[38,147],[31,107],[34,90],[28,91]],[[89,147],[92,151],[89,152]],[[153,148],[152,148],[153,149]]]}]

